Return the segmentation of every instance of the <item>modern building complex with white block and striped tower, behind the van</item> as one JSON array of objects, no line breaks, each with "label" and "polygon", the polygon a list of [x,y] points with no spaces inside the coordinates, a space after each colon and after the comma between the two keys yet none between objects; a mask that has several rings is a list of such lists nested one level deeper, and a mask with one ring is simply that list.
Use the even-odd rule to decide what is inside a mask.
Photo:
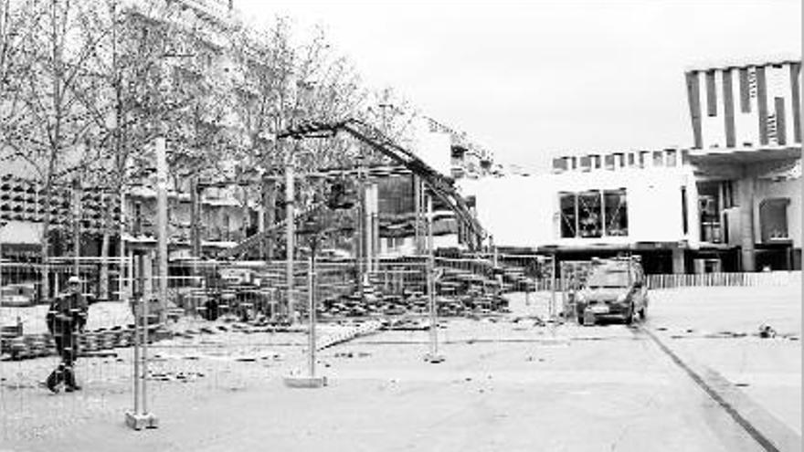
[{"label": "modern building complex with white block and striped tower, behind the van", "polygon": [[503,247],[638,254],[649,273],[801,268],[800,61],[692,69],[693,146],[460,180]]}]

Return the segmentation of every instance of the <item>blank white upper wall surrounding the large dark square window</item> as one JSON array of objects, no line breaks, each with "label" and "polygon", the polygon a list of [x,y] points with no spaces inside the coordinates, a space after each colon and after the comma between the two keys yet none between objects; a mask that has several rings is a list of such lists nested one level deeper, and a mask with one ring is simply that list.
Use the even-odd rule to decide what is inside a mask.
[{"label": "blank white upper wall surrounding the large dark square window", "polygon": [[[460,181],[474,194],[481,225],[501,246],[584,246],[688,240],[697,245],[697,193],[688,168],[597,170]],[[682,233],[682,185],[687,187],[688,234]],[[559,192],[625,188],[627,237],[561,238]]]}]

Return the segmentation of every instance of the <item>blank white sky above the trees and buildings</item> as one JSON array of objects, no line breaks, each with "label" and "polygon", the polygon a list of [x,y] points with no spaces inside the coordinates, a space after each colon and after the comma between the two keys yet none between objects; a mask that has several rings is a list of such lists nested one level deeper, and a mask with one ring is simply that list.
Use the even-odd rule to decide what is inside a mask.
[{"label": "blank white sky above the trees and buildings", "polygon": [[259,22],[323,26],[373,88],[495,153],[690,146],[684,70],[801,56],[800,0],[235,0]]}]

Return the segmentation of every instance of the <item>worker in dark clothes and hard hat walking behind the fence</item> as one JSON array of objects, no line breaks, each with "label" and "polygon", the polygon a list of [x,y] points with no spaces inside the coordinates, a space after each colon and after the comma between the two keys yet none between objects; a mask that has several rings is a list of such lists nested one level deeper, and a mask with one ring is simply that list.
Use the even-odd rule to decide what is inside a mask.
[{"label": "worker in dark clothes and hard hat walking behind the fence", "polygon": [[81,293],[81,280],[71,276],[67,280],[68,288],[60,293],[50,304],[48,311],[48,329],[56,342],[56,350],[61,358],[58,367],[50,373],[45,385],[53,393],[58,393],[60,384],[65,384],[65,391],[71,393],[81,387],[76,383],[74,364],[78,356],[78,333],[83,331],[87,323],[88,304]]}]

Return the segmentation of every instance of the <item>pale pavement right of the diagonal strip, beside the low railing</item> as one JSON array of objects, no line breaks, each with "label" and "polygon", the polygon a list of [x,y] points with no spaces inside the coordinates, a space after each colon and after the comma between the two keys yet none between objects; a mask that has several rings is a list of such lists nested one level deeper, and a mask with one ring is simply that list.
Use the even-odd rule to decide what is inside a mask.
[{"label": "pale pavement right of the diagonal strip, beside the low railing", "polygon": [[[800,285],[653,290],[647,326],[800,436],[800,294]],[[762,324],[776,337],[759,337]]]}]

